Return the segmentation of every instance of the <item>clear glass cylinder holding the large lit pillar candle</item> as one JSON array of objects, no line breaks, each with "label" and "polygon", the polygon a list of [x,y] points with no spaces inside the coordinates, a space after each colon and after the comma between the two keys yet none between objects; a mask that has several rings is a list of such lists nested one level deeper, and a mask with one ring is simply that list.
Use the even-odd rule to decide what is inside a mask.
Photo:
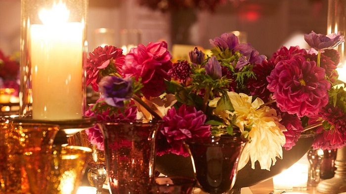
[{"label": "clear glass cylinder holding the large lit pillar candle", "polygon": [[88,0],[21,0],[20,116],[81,119]]}]

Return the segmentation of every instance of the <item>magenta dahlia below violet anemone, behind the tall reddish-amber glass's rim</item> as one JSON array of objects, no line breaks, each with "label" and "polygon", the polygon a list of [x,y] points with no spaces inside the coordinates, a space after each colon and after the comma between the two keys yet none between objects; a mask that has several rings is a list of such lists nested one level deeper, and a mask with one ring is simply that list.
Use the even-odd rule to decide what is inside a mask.
[{"label": "magenta dahlia below violet anemone, behind the tall reddish-amber glass's rim", "polygon": [[[100,98],[96,102],[100,102],[104,99]],[[104,103],[105,104],[105,103]],[[136,119],[137,117],[137,107],[129,107],[125,110],[124,114],[121,113],[119,110],[117,114],[110,114],[109,109],[106,111],[102,111],[101,113],[98,112],[98,114],[95,115],[95,112],[91,111],[92,107],[94,105],[91,105],[89,109],[86,111],[86,116],[96,116],[97,122],[102,122],[105,120],[118,120],[118,119]],[[101,132],[101,129],[98,124],[95,124],[93,127],[86,129],[87,138],[89,142],[92,145],[96,145],[97,149],[103,151],[104,145],[103,145],[103,135]]]}]

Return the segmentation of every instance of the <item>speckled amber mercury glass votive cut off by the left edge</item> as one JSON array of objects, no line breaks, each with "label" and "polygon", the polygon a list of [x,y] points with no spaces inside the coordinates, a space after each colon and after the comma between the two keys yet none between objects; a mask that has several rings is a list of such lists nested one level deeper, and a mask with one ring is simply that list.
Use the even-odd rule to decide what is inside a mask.
[{"label": "speckled amber mercury glass votive cut off by the left edge", "polygon": [[[39,175],[46,172],[44,155],[49,154],[58,130],[57,125],[43,123],[0,122],[0,193],[35,193],[30,182],[46,187],[46,179]],[[33,159],[26,161],[23,156]],[[33,169],[31,180],[27,168]]]}]

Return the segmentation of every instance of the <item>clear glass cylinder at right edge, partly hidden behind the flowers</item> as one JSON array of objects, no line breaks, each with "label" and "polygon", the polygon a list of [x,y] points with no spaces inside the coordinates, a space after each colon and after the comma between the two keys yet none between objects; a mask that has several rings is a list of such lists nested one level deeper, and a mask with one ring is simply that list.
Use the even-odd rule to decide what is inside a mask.
[{"label": "clear glass cylinder at right edge, partly hidden behind the flowers", "polygon": [[[328,0],[327,34],[339,31],[346,36],[346,0]],[[345,42],[336,49],[340,54],[340,63],[336,65],[343,67],[346,64]]]}]

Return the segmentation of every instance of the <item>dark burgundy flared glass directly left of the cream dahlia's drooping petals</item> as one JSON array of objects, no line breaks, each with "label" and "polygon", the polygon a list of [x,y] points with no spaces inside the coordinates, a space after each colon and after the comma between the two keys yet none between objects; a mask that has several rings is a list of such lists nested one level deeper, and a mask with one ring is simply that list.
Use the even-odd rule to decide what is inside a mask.
[{"label": "dark burgundy flared glass directly left of the cream dahlia's drooping petals", "polygon": [[230,136],[191,138],[185,141],[196,179],[204,192],[223,194],[232,189],[246,139]]}]

